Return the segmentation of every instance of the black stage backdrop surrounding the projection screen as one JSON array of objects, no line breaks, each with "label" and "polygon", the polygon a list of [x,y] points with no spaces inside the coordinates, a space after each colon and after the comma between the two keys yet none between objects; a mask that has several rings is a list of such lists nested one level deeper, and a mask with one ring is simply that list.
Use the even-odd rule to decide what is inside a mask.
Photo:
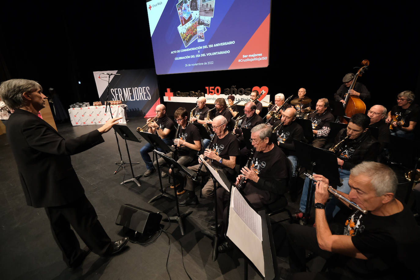
[{"label": "black stage backdrop surrounding the projection screen", "polygon": [[[93,71],[155,66],[145,1],[19,2],[2,10],[1,80],[39,81],[44,89],[55,88],[65,107],[98,99]],[[234,85],[268,86],[269,94],[288,96],[305,87],[312,99],[332,99],[342,77],[368,59],[358,81],[373,103],[390,109],[399,92],[419,94],[416,11],[415,3],[403,2],[274,0],[268,68],[158,76],[160,94],[166,88],[205,92],[206,86]],[[252,11],[237,16],[252,20]]]}]

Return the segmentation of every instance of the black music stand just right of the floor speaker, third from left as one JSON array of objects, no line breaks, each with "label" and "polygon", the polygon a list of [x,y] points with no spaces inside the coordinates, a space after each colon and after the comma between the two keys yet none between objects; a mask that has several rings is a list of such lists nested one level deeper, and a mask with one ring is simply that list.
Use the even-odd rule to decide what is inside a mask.
[{"label": "black music stand just right of the floor speaker, third from left", "polygon": [[[196,173],[194,171],[189,170],[184,165],[180,165],[173,158],[168,157],[163,152],[159,152],[157,150],[153,150],[153,151],[156,153],[156,156],[159,154],[165,160],[165,162],[168,164],[168,166],[171,167],[171,170],[172,170],[171,176],[172,176],[172,179],[173,179],[174,186],[176,186],[176,177],[178,176],[179,171],[182,171],[185,174],[189,174],[192,177],[195,176]],[[173,192],[175,194],[176,215],[175,216],[168,217],[168,219],[169,219],[169,221],[176,221],[176,222],[178,222],[179,229],[181,230],[181,235],[185,235],[184,218],[186,216],[190,215],[192,213],[192,210],[188,210],[187,212],[181,214],[179,212],[178,196],[176,194],[176,187],[173,188]]]}]

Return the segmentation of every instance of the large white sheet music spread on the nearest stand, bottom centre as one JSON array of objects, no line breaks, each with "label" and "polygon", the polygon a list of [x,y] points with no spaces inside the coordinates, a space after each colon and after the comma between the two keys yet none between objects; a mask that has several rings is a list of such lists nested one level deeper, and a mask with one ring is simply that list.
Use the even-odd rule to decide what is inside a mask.
[{"label": "large white sheet music spread on the nearest stand, bottom centre", "polygon": [[249,206],[237,188],[231,189],[226,236],[265,277],[261,216]]}]

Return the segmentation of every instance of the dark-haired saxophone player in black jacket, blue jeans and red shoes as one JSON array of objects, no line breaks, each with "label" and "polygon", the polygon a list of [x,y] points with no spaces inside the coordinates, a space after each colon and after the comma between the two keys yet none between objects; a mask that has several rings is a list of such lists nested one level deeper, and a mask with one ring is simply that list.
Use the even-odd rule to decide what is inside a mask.
[{"label": "dark-haired saxophone player in black jacket, blue jeans and red shoes", "polygon": [[[347,128],[343,128],[336,136],[334,145],[341,142],[346,136],[349,136],[339,147],[336,147],[337,167],[339,168],[340,181],[342,186],[337,186],[337,190],[348,194],[350,169],[362,161],[376,161],[380,153],[381,144],[370,134],[367,129],[370,124],[370,118],[364,114],[354,114],[349,120]],[[300,199],[299,212],[294,215],[296,218],[302,218],[306,209],[307,193],[309,188],[309,179],[306,178]],[[331,199],[326,211],[327,217],[332,218],[340,210],[335,199]]]}]

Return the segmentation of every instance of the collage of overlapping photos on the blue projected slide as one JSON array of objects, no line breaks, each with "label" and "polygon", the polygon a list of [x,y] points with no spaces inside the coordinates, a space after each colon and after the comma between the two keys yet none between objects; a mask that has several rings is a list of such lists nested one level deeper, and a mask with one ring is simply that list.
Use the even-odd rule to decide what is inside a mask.
[{"label": "collage of overlapping photos on the blue projected slide", "polygon": [[184,46],[197,39],[204,42],[204,32],[210,27],[211,18],[214,16],[216,0],[181,0],[176,4],[179,21],[178,32]]}]

